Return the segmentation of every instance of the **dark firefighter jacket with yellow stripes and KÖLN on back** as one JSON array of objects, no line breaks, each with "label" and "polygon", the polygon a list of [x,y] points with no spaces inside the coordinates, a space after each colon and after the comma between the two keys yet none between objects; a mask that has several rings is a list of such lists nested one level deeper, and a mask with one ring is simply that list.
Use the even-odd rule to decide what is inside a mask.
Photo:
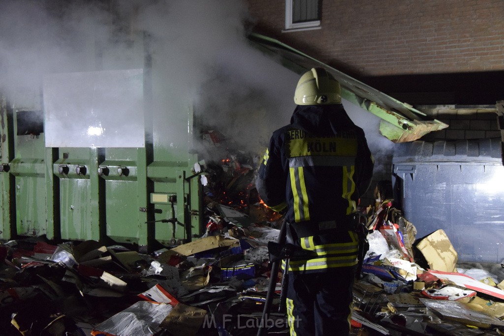
[{"label": "dark firefighter jacket with yellow stripes and K\u00d6LN on back", "polygon": [[356,211],[373,164],[364,131],[342,104],[298,105],[291,123],[273,132],[257,189],[268,207],[287,209],[286,220],[298,231],[295,243],[321,255],[311,266],[291,262],[289,268],[296,263],[301,271],[356,264],[358,239],[353,232],[338,240],[341,234],[321,235],[320,229],[334,227],[331,223],[338,225]]}]

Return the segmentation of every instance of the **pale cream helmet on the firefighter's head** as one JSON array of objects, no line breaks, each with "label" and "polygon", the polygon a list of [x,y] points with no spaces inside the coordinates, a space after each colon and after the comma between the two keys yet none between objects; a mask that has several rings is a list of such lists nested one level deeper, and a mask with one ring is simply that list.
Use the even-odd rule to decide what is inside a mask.
[{"label": "pale cream helmet on the firefighter's head", "polygon": [[297,105],[341,104],[340,83],[324,68],[312,68],[301,76],[294,93]]}]

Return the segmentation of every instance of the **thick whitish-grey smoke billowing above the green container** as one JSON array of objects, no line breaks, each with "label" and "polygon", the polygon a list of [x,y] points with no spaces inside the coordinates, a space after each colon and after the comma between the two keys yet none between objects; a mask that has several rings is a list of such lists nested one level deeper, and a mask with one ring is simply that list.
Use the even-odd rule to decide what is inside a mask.
[{"label": "thick whitish-grey smoke billowing above the green container", "polygon": [[[0,92],[18,107],[43,109],[31,106],[32,98],[42,94],[48,75],[142,69],[148,55],[152,104],[146,113],[153,126],[146,129],[156,144],[197,147],[188,145],[194,114],[244,151],[258,153],[273,130],[289,122],[299,76],[249,45],[249,19],[239,0],[0,0]],[[352,106],[345,104],[371,150],[391,150],[377,121],[370,124],[373,116]],[[144,127],[120,114],[114,120]],[[75,125],[94,123],[89,110]],[[75,134],[61,129],[60,136]]]}]

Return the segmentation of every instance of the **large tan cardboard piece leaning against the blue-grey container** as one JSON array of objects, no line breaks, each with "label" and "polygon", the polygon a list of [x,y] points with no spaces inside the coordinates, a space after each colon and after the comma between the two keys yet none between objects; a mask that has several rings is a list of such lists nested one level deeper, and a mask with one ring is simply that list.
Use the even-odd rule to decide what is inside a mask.
[{"label": "large tan cardboard piece leaning against the blue-grey container", "polygon": [[457,272],[458,254],[445,231],[440,229],[425,236],[416,245],[431,270]]}]

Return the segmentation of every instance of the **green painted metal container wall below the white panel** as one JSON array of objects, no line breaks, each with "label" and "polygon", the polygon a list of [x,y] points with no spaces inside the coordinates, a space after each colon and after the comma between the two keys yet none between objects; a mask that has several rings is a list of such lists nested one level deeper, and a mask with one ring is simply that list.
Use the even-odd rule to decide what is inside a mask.
[{"label": "green painted metal container wall below the white panel", "polygon": [[[93,239],[145,250],[203,234],[190,141],[174,150],[152,140],[143,148],[46,148],[43,132],[17,134],[18,111],[5,98],[1,112],[0,238]],[[166,195],[166,203],[152,201],[153,193]]]}]

